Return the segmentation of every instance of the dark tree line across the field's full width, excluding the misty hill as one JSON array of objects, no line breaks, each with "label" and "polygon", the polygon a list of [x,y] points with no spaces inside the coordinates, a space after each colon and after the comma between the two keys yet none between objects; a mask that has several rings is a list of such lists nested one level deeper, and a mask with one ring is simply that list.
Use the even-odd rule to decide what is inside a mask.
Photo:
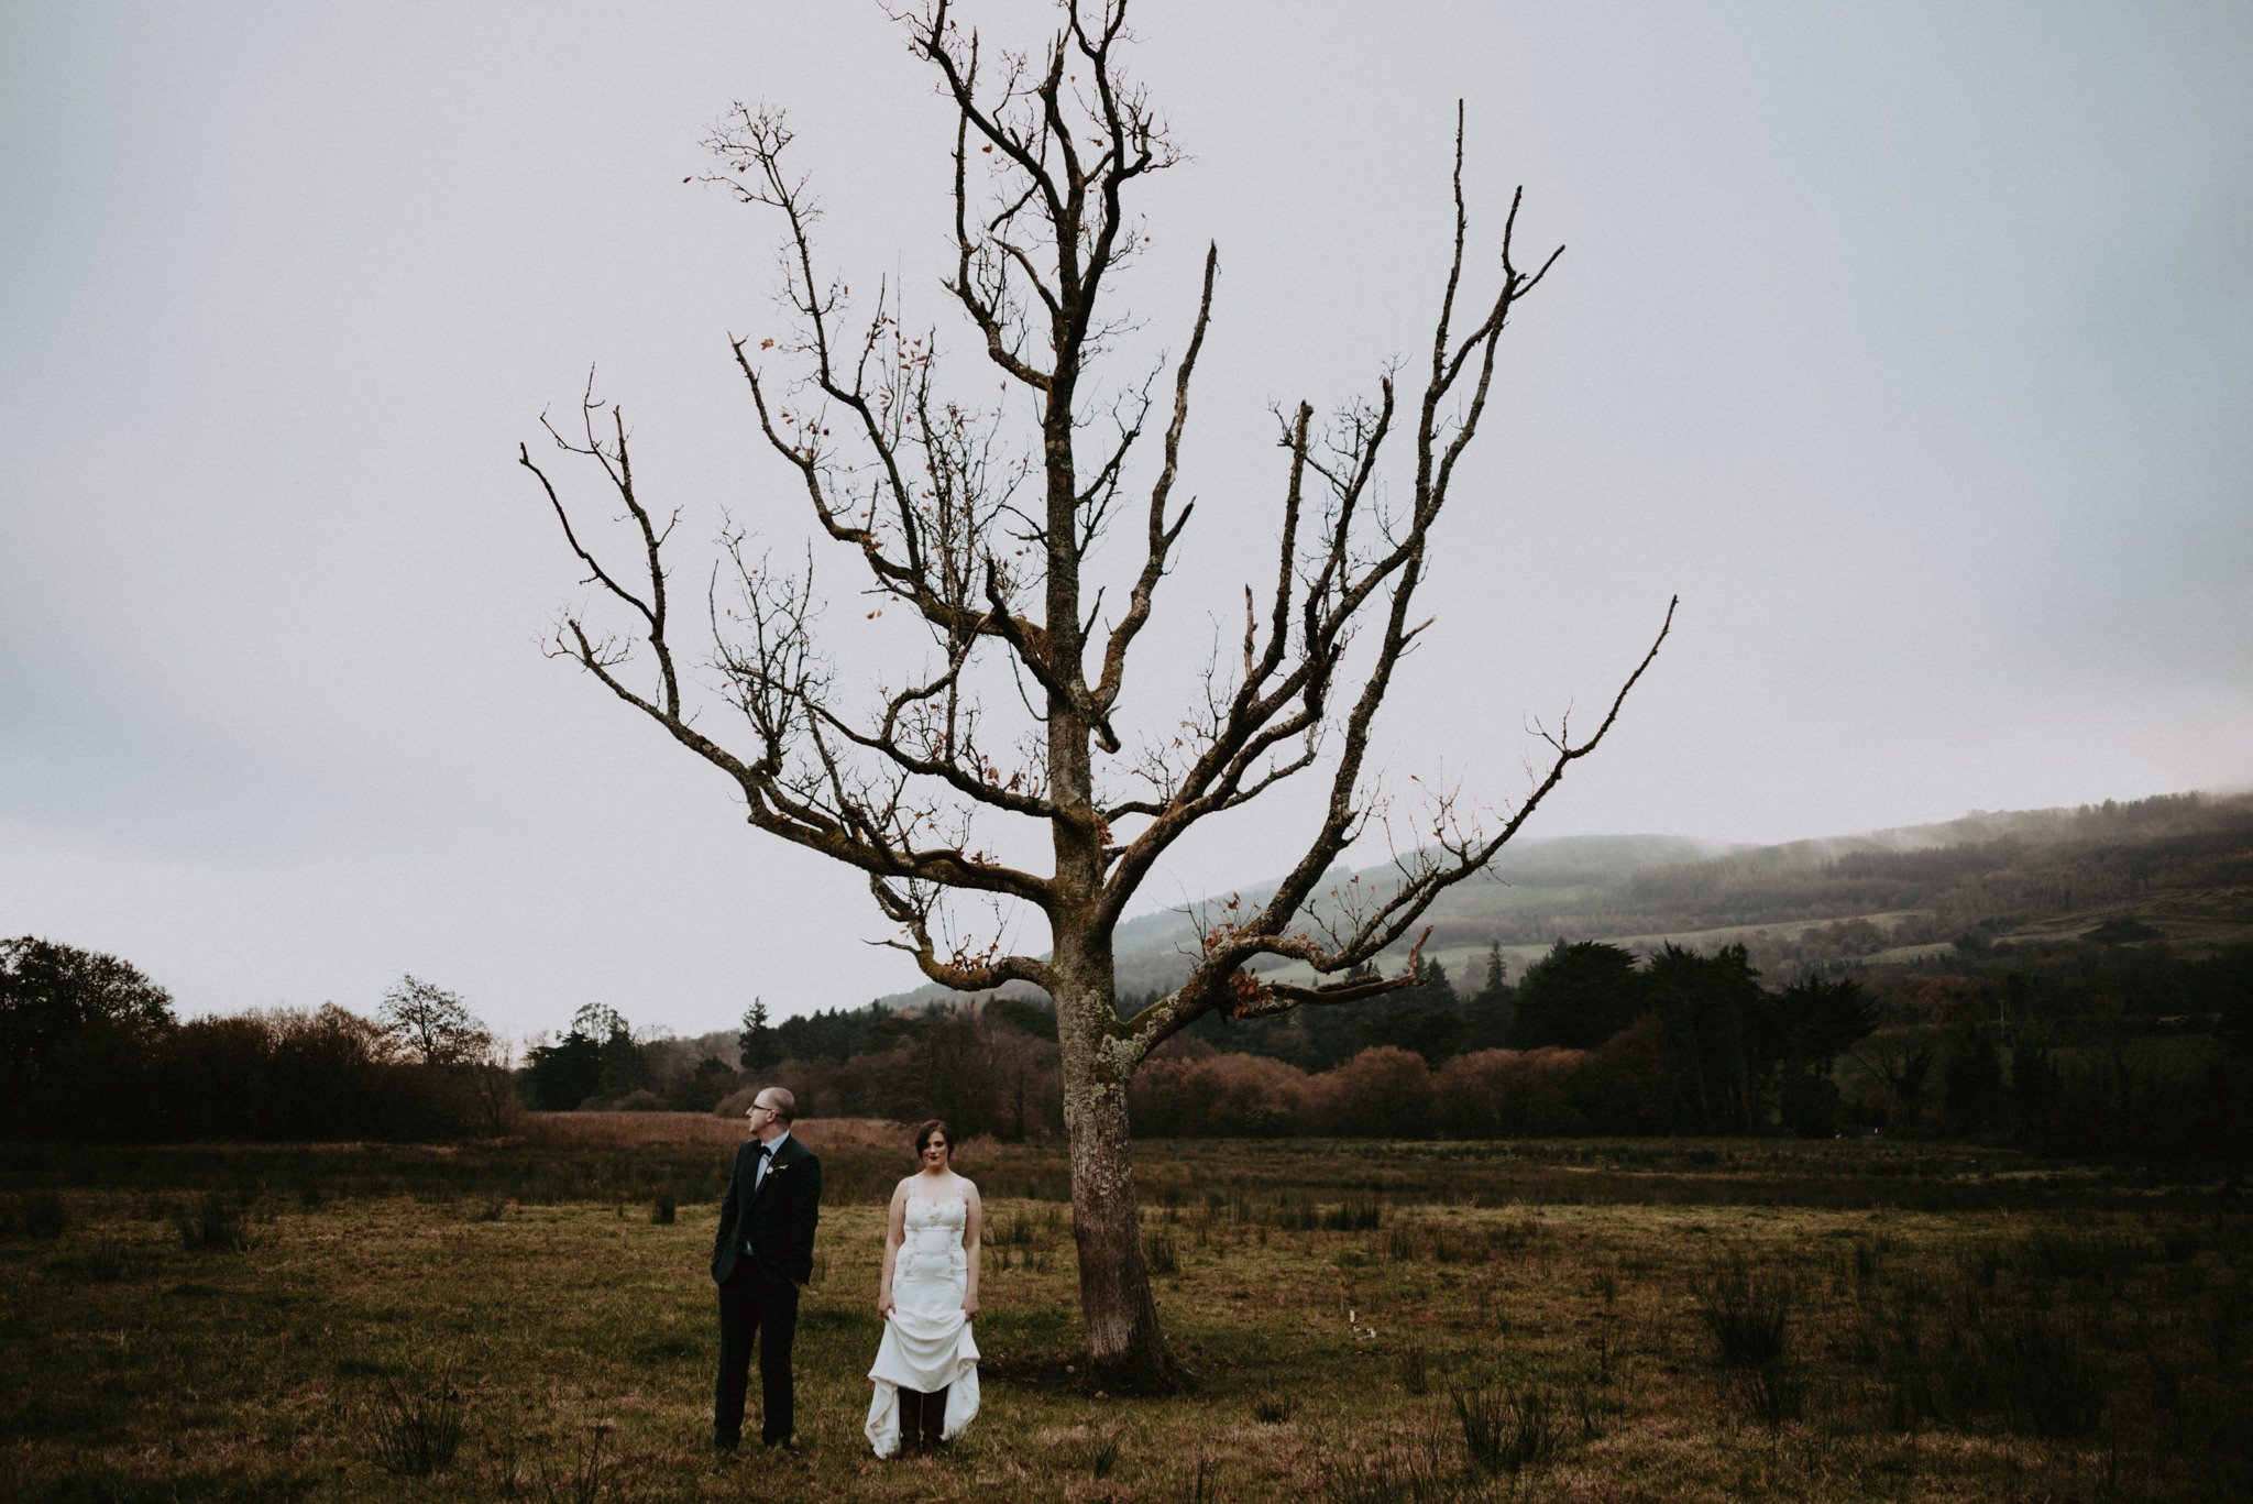
[{"label": "dark tree line across the field's full width, excluding the misty hill", "polygon": [[[1122,1019],[1154,999],[1126,997]],[[2138,1055],[2181,1037],[2188,1067]],[[809,1116],[1063,1130],[1041,997],[881,1001],[678,1039],[579,1008],[511,1067],[469,1006],[403,976],[376,1017],[333,1003],[180,1021],[131,963],[0,943],[0,1130],[65,1139],[448,1139],[543,1112],[737,1114],[786,1085]],[[2055,943],[1764,985],[1755,954],[1636,956],[1559,938],[1512,983],[1440,965],[1352,1008],[1208,1017],[1131,1094],[1138,1136],[1838,1132],[1998,1136],[2059,1152],[2253,1150],[2253,945],[2176,956],[2109,920]]]}]

